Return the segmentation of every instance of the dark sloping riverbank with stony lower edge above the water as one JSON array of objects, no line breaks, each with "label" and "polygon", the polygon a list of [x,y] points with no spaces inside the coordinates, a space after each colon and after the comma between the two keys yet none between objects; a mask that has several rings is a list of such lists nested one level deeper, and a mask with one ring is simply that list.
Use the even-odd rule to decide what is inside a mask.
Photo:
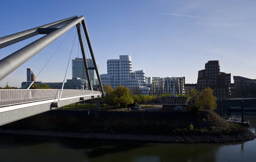
[{"label": "dark sloping riverbank with stony lower edge above the water", "polygon": [[176,112],[166,113],[171,118],[36,115],[1,126],[0,133],[178,143],[239,142],[255,139],[255,134],[248,128],[229,123],[213,112],[178,112],[178,115]]}]

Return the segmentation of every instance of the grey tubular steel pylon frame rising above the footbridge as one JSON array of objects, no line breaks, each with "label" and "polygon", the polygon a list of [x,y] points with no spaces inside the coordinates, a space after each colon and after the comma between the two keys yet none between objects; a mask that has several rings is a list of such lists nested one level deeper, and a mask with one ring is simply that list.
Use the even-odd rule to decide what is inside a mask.
[{"label": "grey tubular steel pylon frame rising above the footbridge", "polygon": [[[84,34],[86,37],[87,45],[90,50],[90,55],[92,57],[94,67],[88,67],[80,25],[83,26]],[[88,80],[88,87],[90,90],[93,90],[93,87],[90,82],[89,70],[96,70],[96,75],[99,80],[99,86],[100,86],[100,89],[102,92],[102,96],[104,96],[104,90],[102,87],[102,82],[101,82],[101,79],[99,76],[99,71],[98,71],[95,57],[93,54],[93,48],[92,48],[92,45],[90,42],[90,36],[89,36],[88,30],[87,30],[84,16],[69,17],[67,19],[55,21],[55,22],[52,22],[52,23],[49,23],[46,25],[42,25],[42,26],[38,26],[36,28],[26,30],[26,31],[21,31],[16,34],[1,37],[0,38],[0,49],[3,47],[7,47],[9,45],[15,44],[17,42],[23,41],[25,39],[31,38],[38,34],[46,34],[45,36],[41,37],[40,39],[37,39],[36,41],[21,48],[20,50],[17,50],[16,52],[10,54],[9,56],[6,56],[5,58],[1,59],[0,60],[0,80],[2,80],[7,75],[12,73],[14,70],[16,70],[18,67],[20,67],[22,64],[24,64],[29,59],[31,59],[38,52],[40,52],[45,47],[47,47],[47,45],[51,44],[58,37],[60,37],[64,33],[66,33],[68,30],[70,30],[74,26],[76,26],[77,33],[79,36],[80,47],[81,47],[81,51],[82,51],[85,71],[86,71],[87,80]],[[60,28],[58,28],[58,27],[60,27]]]}]

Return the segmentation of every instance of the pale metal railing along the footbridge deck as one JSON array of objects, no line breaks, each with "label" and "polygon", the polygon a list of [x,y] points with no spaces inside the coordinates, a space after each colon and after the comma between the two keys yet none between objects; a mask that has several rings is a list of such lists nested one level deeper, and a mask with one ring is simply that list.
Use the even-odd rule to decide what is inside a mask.
[{"label": "pale metal railing along the footbridge deck", "polygon": [[[61,89],[0,89],[0,107],[34,101],[59,99]],[[63,89],[61,98],[101,95],[101,92],[91,90]]]}]

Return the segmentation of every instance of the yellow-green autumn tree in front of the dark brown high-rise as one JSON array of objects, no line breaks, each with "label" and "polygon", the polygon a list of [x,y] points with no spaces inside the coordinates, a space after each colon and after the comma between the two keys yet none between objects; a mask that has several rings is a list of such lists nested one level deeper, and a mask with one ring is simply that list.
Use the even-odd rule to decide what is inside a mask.
[{"label": "yellow-green autumn tree in front of the dark brown high-rise", "polygon": [[213,90],[209,87],[205,88],[199,93],[197,100],[197,105],[201,109],[209,107],[211,110],[214,110],[217,107],[217,98],[213,96]]}]

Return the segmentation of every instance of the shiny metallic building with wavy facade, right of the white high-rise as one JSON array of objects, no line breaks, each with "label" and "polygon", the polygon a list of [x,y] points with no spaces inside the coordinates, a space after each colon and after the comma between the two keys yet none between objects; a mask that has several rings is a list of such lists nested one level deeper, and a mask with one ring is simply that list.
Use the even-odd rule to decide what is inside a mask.
[{"label": "shiny metallic building with wavy facade, right of the white high-rise", "polygon": [[185,95],[185,77],[152,77],[151,94],[179,94]]}]

